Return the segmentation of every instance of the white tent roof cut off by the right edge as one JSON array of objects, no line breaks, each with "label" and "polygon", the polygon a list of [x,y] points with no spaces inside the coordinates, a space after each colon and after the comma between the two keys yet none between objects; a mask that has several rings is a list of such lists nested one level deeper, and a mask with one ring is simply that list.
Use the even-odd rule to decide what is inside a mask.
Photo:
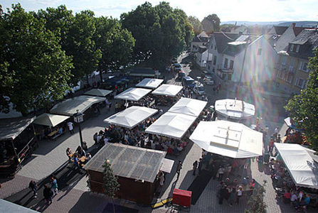
[{"label": "white tent roof cut off by the right edge", "polygon": [[295,185],[318,189],[318,163],[315,151],[295,143],[275,143]]}]

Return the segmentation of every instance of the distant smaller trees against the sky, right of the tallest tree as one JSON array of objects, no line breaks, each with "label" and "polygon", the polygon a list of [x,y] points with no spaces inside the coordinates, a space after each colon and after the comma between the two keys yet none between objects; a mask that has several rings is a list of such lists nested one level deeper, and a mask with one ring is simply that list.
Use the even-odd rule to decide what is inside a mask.
[{"label": "distant smaller trees against the sky, right of the tallest tree", "polygon": [[218,15],[211,14],[203,18],[202,21],[198,20],[195,16],[189,16],[189,21],[194,28],[194,33],[196,35],[200,34],[202,31],[206,33],[218,32],[220,31],[220,18]]}]

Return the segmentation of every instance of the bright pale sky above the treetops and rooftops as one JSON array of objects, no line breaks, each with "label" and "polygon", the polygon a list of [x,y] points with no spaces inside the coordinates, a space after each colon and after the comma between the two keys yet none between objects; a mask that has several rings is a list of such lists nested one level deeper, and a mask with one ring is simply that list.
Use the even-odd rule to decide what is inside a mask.
[{"label": "bright pale sky above the treetops and rooftops", "polygon": [[[152,5],[160,1],[148,0]],[[26,11],[38,11],[65,4],[69,10],[94,11],[95,16],[120,18],[121,13],[132,11],[145,0],[1,0],[3,9],[20,3]],[[188,16],[200,21],[216,13],[225,21],[318,21],[317,0],[168,0],[174,8],[182,9]]]}]

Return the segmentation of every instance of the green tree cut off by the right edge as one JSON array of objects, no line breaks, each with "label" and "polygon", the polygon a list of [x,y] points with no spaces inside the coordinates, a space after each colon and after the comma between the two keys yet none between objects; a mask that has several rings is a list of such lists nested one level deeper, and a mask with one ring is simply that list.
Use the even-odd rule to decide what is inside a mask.
[{"label": "green tree cut off by the right edge", "polygon": [[318,48],[314,57],[309,58],[309,78],[307,87],[289,100],[285,109],[302,129],[312,148],[318,151]]}]

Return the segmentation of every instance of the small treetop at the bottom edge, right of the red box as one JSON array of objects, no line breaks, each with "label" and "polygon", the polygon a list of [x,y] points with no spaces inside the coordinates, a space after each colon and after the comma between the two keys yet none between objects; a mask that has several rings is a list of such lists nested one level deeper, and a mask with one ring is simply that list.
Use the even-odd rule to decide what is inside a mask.
[{"label": "small treetop at the bottom edge, right of the red box", "polygon": [[261,185],[258,189],[254,190],[254,193],[256,192],[256,195],[253,195],[250,197],[250,200],[248,200],[248,209],[245,209],[245,213],[266,213],[266,204],[264,202],[265,197],[265,186],[266,181],[264,180],[263,185]]}]

